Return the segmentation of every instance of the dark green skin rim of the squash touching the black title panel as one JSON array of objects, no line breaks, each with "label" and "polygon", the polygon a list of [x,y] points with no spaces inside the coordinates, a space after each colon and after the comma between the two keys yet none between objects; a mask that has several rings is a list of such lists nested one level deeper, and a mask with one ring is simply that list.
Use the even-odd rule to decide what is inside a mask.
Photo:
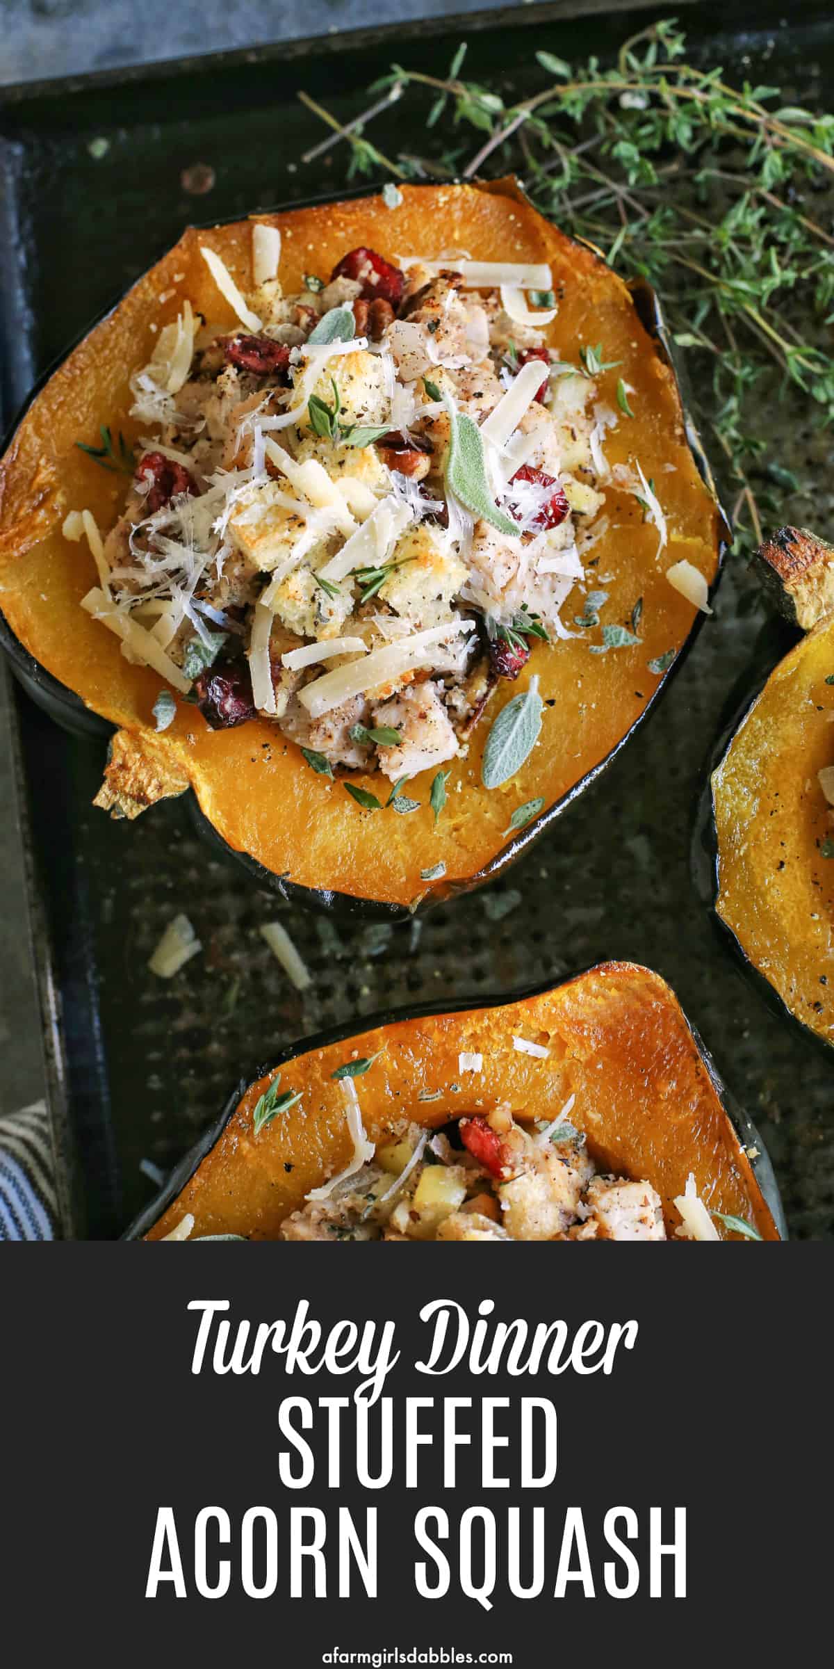
[{"label": "dark green skin rim of the squash touching the black title panel", "polygon": [[[590,973],[590,971],[592,971],[590,968],[580,968],[575,970],[574,973],[565,973],[564,980],[560,980],[559,985],[567,985],[570,980],[579,978],[582,973]],[[472,998],[459,998],[455,1003],[417,1003],[414,1008],[384,1008],[375,1015],[362,1016],[362,1033],[374,1031],[379,1026],[390,1026],[402,1020],[422,1020],[430,1015],[457,1015],[457,1013],[465,1013],[467,1010],[472,1008],[504,1008],[507,1003],[525,1001],[530,996],[542,996],[550,990],[554,990],[552,981],[545,980],[544,985],[527,986],[522,991],[509,991],[509,993],[504,991],[500,996],[492,996],[492,998],[484,998],[482,995],[479,995]],[[687,1020],[686,1015],[684,1018]],[[749,1118],[749,1115],[744,1112],[742,1107],[739,1107],[736,1098],[724,1085],[724,1080],[717,1071],[712,1055],[704,1046],[699,1031],[689,1020],[687,1025],[701,1051],[704,1066],[709,1071],[716,1095],[719,1097],[727,1117],[731,1118],[732,1128],[739,1138],[739,1145],[746,1148],[757,1148],[757,1158],[751,1160],[751,1167],[762,1192],[764,1203],[767,1205],[767,1210],[771,1212],[771,1217],[779,1232],[779,1238],[787,1240],[787,1223],[786,1223],[782,1198],[779,1193],[779,1185],[776,1182],[774,1168],[771,1165],[771,1158],[767,1155],[764,1142],[759,1132],[756,1130],[756,1125]],[[327,1048],[332,1043],[350,1043],[354,1036],[357,1036],[355,1021],[347,1021],[345,1025],[340,1026],[330,1026],[327,1031],[317,1031],[310,1038],[302,1038],[297,1043],[290,1043],[270,1061],[255,1066],[254,1071],[250,1071],[247,1077],[239,1078],[220,1115],[208,1125],[208,1128],[193,1143],[193,1147],[188,1148],[188,1152],[183,1155],[178,1165],[175,1165],[175,1168],[172,1170],[168,1180],[163,1183],[160,1192],[153,1197],[153,1200],[150,1200],[148,1205],[145,1205],[145,1208],[138,1213],[138,1217],[133,1218],[133,1222],[125,1230],[122,1238],[143,1240],[143,1237],[150,1232],[150,1228],[153,1228],[153,1223],[158,1222],[162,1213],[167,1212],[168,1205],[172,1205],[177,1195],[182,1193],[185,1185],[193,1177],[195,1170],[202,1165],[203,1158],[212,1152],[215,1143],[220,1140],[229,1120],[235,1115],[245,1092],[254,1083],[259,1083],[267,1071],[272,1071],[275,1066],[284,1066],[287,1061],[295,1060],[297,1055],[305,1055],[317,1048]]]}]

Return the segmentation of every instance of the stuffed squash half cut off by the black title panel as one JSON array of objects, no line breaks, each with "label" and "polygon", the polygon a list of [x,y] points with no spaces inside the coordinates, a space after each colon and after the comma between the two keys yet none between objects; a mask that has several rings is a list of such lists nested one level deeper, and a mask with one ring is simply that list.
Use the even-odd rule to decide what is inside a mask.
[{"label": "stuffed squash half cut off by the black title panel", "polygon": [[777,1240],[761,1142],[647,968],[314,1040],[235,1092],[148,1240]]}]

